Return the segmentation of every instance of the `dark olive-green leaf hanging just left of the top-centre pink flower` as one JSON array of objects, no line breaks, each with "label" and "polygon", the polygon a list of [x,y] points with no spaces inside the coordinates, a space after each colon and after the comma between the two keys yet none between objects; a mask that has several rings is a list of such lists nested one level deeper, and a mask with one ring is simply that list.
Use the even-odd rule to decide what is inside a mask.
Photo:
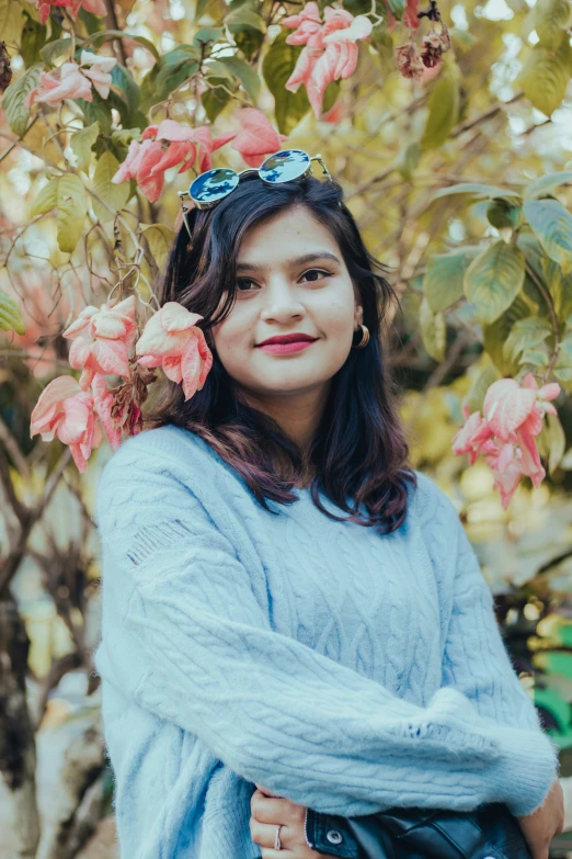
[{"label": "dark olive-green leaf hanging just left of the top-centre pink flower", "polygon": [[310,110],[304,87],[297,92],[289,92],[284,88],[301,53],[300,47],[286,44],[288,34],[288,30],[278,33],[262,63],[262,74],[274,95],[274,115],[282,134],[289,134]]}]

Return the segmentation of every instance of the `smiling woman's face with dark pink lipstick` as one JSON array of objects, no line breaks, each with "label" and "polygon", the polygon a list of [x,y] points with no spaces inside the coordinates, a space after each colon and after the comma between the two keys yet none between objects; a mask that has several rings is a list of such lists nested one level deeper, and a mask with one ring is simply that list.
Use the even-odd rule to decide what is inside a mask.
[{"label": "smiling woman's face with dark pink lipstick", "polygon": [[[211,329],[215,349],[229,375],[258,397],[318,393],[347,359],[363,321],[357,301],[330,231],[307,208],[288,210],[247,233],[234,306]],[[282,353],[260,346],[289,334],[316,339]]]}]

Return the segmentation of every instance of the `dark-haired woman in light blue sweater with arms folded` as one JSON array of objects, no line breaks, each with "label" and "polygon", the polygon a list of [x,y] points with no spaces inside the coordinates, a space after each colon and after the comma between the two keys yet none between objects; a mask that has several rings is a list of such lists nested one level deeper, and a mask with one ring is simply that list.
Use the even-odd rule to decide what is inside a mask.
[{"label": "dark-haired woman in light blue sweater with arms folded", "polygon": [[311,177],[249,176],[175,240],[160,302],[204,317],[214,363],[98,491],[123,859],[316,859],[307,807],[506,802],[535,859],[561,826],[490,589],[408,465],[381,272]]}]

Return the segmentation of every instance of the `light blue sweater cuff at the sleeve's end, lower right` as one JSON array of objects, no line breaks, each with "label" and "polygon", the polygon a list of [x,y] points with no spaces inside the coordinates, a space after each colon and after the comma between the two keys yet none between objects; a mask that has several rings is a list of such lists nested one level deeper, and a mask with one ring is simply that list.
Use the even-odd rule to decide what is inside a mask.
[{"label": "light blue sweater cuff at the sleeve's end, lower right", "polygon": [[542,731],[496,724],[494,734],[502,751],[491,776],[493,795],[502,798],[515,817],[531,814],[558,778],[558,747]]}]

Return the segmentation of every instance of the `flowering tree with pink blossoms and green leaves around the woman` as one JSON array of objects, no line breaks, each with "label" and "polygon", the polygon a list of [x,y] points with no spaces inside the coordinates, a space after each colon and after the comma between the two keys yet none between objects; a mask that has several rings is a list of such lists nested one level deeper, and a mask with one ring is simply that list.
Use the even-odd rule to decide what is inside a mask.
[{"label": "flowering tree with pink blossoms and green leaves around the woman", "polygon": [[[570,2],[504,7],[492,20],[445,0],[0,0],[2,641],[23,641],[10,586],[58,487],[83,504],[78,472],[141,429],[161,375],[185,398],[207,380],[202,317],[159,308],[153,283],[176,192],[213,165],[321,151],[394,267],[387,353],[408,396],[419,378],[424,397],[448,386],[453,467],[480,457],[507,516],[523,477],[538,488],[568,467]],[[89,667],[78,606],[57,604]],[[0,698],[18,697],[19,664],[15,679],[0,667]],[[30,785],[34,726],[20,721],[19,777],[1,753],[0,771]],[[13,820],[35,820],[33,791],[12,794]],[[37,837],[23,827],[22,851]]]}]

